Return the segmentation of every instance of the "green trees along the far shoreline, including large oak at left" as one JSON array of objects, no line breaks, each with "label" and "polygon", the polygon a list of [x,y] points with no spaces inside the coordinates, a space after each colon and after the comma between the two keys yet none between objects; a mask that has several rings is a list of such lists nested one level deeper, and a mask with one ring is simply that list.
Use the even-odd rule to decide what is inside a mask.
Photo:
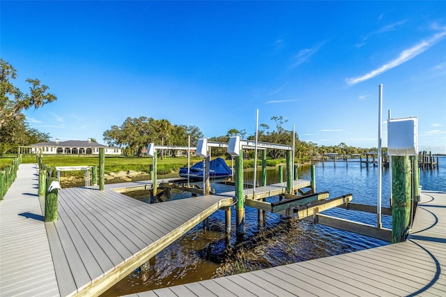
[{"label": "green trees along the far shoreline, including large oak at left", "polygon": [[[49,93],[49,87],[41,84],[38,79],[26,79],[29,84],[29,92],[23,92],[13,84],[17,79],[17,70],[8,62],[0,59],[0,154],[17,153],[18,146],[26,146],[38,142],[48,142],[48,133],[30,128],[23,112],[34,107],[38,109],[43,105],[57,100],[54,94]],[[266,123],[261,123],[258,139],[260,142],[275,144],[293,144],[293,131],[284,129],[284,123],[288,120],[282,116],[272,116],[273,129]],[[229,138],[239,135],[242,139],[254,140],[255,135],[247,135],[246,130],[229,130],[226,135],[210,137],[213,142],[229,142]],[[142,156],[144,148],[150,143],[161,145],[187,146],[188,136],[192,146],[203,137],[201,130],[194,125],[177,125],[167,119],[153,119],[140,116],[139,118],[127,118],[121,125],[112,125],[103,133],[104,141],[113,146],[123,148],[128,155]],[[339,155],[353,155],[376,148],[357,148],[341,143],[337,146],[318,146],[314,142],[301,141],[295,134],[295,157],[312,158],[324,153],[339,153]],[[162,156],[167,152],[163,151]],[[284,158],[284,151],[268,150],[268,158]],[[254,157],[254,151],[246,152],[247,158]],[[214,148],[213,155],[225,156],[226,149]]]}]

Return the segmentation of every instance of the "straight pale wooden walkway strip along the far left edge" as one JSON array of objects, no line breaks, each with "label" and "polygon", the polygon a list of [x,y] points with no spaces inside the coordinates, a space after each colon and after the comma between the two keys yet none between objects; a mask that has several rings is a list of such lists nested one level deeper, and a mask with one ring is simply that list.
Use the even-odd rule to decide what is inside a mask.
[{"label": "straight pale wooden walkway strip along the far left edge", "polygon": [[20,165],[0,202],[0,296],[59,295],[36,174],[36,166]]}]

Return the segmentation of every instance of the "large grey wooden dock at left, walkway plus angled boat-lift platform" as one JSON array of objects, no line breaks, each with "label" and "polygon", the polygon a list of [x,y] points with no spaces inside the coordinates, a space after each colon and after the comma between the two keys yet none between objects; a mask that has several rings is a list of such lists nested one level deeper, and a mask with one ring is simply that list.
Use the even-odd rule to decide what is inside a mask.
[{"label": "large grey wooden dock at left, walkway plus angled boat-lift platform", "polygon": [[[59,191],[59,219],[45,223],[37,173],[36,165],[20,165],[0,203],[0,296],[97,296],[233,203],[233,192],[162,204],[116,192],[152,188],[151,181],[107,185],[103,191],[65,188]],[[293,188],[303,183],[295,181]],[[256,190],[265,192],[282,194],[285,185]]]}]

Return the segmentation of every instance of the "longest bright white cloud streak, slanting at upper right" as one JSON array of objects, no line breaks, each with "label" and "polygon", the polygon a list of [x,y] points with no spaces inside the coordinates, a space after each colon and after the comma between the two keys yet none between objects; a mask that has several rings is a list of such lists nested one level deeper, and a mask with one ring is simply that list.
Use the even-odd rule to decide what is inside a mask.
[{"label": "longest bright white cloud streak, slanting at upper right", "polygon": [[385,73],[388,70],[391,70],[392,68],[395,68],[402,63],[406,63],[407,61],[410,61],[411,59],[415,58],[415,56],[418,56],[419,54],[422,54],[426,50],[429,50],[429,48],[438,41],[442,40],[446,36],[446,29],[443,28],[442,31],[439,33],[434,34],[431,38],[427,40],[422,40],[420,43],[417,43],[413,47],[408,48],[407,50],[403,50],[401,54],[397,57],[397,59],[394,59],[390,61],[389,63],[384,64],[383,66],[380,66],[379,68],[376,68],[375,70],[372,70],[371,72],[367,73],[366,75],[362,75],[360,77],[351,77],[347,78],[346,82],[347,84],[358,84],[360,82],[364,82],[367,79],[371,79],[373,77],[376,77],[382,73]]}]

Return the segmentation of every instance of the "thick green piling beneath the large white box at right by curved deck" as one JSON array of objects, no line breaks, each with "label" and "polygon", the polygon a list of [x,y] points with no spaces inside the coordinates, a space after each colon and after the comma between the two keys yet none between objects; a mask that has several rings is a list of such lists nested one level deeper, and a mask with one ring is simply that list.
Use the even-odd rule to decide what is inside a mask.
[{"label": "thick green piling beneath the large white box at right by curved deck", "polygon": [[410,222],[410,159],[392,156],[392,243],[406,240]]}]

